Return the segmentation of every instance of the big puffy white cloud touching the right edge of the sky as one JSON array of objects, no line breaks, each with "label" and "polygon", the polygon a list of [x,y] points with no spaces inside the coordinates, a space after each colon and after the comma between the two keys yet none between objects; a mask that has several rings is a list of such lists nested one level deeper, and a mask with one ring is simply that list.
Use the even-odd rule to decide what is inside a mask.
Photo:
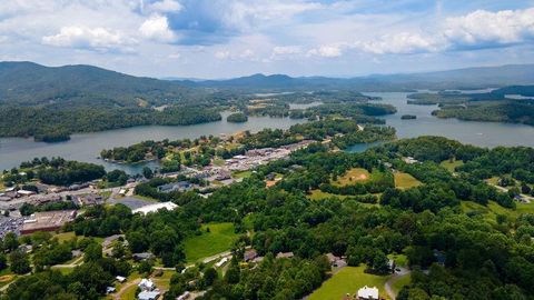
[{"label": "big puffy white cloud touching the right edge of the sky", "polygon": [[497,12],[477,10],[447,18],[444,36],[453,43],[466,46],[522,42],[534,38],[534,8]]}]

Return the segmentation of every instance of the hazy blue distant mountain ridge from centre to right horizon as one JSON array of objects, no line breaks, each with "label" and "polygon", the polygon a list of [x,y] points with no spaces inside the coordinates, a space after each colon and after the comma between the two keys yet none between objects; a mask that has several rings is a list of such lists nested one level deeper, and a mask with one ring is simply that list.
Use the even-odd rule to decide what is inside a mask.
[{"label": "hazy blue distant mountain ridge from centre to right horizon", "polygon": [[359,91],[404,89],[477,89],[512,84],[534,84],[534,64],[465,68],[447,71],[372,74],[354,78],[288,77],[253,74],[227,80],[180,81],[189,87],[306,89],[350,88]]}]

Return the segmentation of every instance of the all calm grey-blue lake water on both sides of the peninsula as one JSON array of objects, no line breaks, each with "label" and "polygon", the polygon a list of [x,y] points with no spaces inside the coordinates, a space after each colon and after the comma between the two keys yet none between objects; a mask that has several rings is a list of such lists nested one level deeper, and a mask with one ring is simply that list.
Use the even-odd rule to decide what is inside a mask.
[{"label": "all calm grey-blue lake water on both sides of the peninsula", "polygon": [[[534,127],[523,124],[506,124],[492,122],[467,122],[455,119],[437,119],[431,112],[436,106],[408,106],[407,93],[376,92],[368,96],[382,97],[382,103],[390,103],[397,108],[397,113],[384,119],[388,126],[397,129],[398,138],[413,138],[418,136],[443,136],[483,147],[495,146],[530,146],[534,147]],[[416,120],[400,120],[403,114],[415,114]],[[0,139],[0,170],[17,167],[22,161],[34,157],[63,157],[69,160],[87,161],[103,164],[108,170],[122,169],[137,173],[142,166],[125,166],[108,163],[97,159],[102,149],[125,147],[144,140],[177,140],[198,138],[200,136],[218,136],[244,130],[259,131],[264,128],[289,128],[303,120],[289,118],[250,117],[245,123],[228,123],[222,113],[222,120],[212,123],[185,126],[185,127],[135,127],[96,133],[73,134],[71,140],[60,143],[34,142],[33,139],[2,138]],[[376,143],[375,143],[376,144]],[[348,151],[363,151],[373,144],[357,144]],[[156,167],[157,162],[148,162]]]}]

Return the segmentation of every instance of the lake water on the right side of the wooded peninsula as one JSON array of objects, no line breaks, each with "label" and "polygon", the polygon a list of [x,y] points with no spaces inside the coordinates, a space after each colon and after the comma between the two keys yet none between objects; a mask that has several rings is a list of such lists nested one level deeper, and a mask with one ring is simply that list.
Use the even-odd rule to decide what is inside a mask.
[{"label": "lake water on the right side of the wooded peninsula", "polygon": [[[397,137],[442,136],[481,147],[528,146],[534,147],[534,127],[525,124],[473,122],[457,119],[439,119],[432,116],[437,106],[414,106],[406,103],[405,92],[368,92],[367,96],[382,97],[377,103],[393,104],[397,113],[383,117],[387,126],[395,127]],[[402,120],[403,114],[417,116],[415,120]],[[366,146],[357,144],[347,151],[359,152]]]}]

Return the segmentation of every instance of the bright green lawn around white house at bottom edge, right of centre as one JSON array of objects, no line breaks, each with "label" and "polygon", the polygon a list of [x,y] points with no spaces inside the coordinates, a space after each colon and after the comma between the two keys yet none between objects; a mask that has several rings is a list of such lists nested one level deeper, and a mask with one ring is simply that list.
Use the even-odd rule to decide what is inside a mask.
[{"label": "bright green lawn around white house at bottom edge, right of centre", "polygon": [[354,294],[364,286],[378,288],[380,298],[389,299],[384,290],[389,276],[374,276],[364,272],[365,267],[345,267],[318,288],[309,300],[339,300],[345,294]]}]

